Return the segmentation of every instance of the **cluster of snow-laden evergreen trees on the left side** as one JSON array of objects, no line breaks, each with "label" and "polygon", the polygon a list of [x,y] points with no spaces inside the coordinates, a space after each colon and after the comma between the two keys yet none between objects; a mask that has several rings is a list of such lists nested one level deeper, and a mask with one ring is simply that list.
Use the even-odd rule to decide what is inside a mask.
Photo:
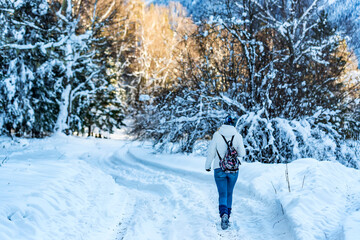
[{"label": "cluster of snow-laden evergreen trees on the left side", "polygon": [[[1,2],[2,132],[41,137],[121,126],[123,108],[106,74],[104,22],[80,32],[72,10],[70,0]],[[89,121],[94,108],[105,120]]]}]

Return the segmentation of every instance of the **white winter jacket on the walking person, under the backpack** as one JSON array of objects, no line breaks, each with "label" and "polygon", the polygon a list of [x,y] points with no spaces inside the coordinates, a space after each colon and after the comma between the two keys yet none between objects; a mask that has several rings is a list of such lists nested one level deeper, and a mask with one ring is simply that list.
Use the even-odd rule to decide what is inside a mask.
[{"label": "white winter jacket on the walking person, under the backpack", "polygon": [[221,135],[223,135],[227,141],[230,141],[231,137],[234,136],[233,147],[239,154],[239,160],[241,161],[242,157],[245,156],[245,148],[242,136],[237,132],[235,127],[231,125],[222,125],[219,130],[214,133],[213,139],[211,140],[205,162],[205,169],[211,169],[211,164],[213,161],[214,169],[220,168],[220,159],[216,153],[216,150],[219,152],[220,156],[223,157],[227,149],[227,145]]}]

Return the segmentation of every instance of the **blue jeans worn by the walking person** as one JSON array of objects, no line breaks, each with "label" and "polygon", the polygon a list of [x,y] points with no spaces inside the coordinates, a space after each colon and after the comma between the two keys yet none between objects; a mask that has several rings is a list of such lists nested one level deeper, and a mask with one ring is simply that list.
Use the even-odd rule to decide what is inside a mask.
[{"label": "blue jeans worn by the walking person", "polygon": [[214,178],[219,192],[219,213],[220,217],[225,213],[230,216],[232,205],[232,194],[239,172],[226,173],[221,168],[214,170]]}]

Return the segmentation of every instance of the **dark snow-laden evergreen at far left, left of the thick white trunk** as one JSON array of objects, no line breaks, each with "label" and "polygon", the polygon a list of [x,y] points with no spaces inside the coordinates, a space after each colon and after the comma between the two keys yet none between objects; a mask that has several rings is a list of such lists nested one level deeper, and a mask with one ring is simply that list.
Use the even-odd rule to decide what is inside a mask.
[{"label": "dark snow-laden evergreen at far left, left of the thick white trunk", "polygon": [[0,4],[1,132],[38,137],[56,121],[60,67],[49,55],[55,19],[46,0]]}]

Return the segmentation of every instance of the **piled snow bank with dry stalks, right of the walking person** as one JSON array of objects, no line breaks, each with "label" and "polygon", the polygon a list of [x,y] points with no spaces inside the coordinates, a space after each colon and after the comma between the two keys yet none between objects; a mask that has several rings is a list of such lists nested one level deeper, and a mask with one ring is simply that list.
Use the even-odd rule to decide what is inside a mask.
[{"label": "piled snow bank with dry stalks, right of the walking person", "polygon": [[284,164],[246,164],[240,182],[264,201],[278,201],[298,239],[343,239],[344,228],[345,239],[352,239],[347,225],[350,230],[360,221],[352,217],[345,226],[344,221],[354,211],[349,206],[359,204],[349,198],[360,192],[359,171],[337,162],[299,159],[288,164],[289,192],[285,170]]}]

